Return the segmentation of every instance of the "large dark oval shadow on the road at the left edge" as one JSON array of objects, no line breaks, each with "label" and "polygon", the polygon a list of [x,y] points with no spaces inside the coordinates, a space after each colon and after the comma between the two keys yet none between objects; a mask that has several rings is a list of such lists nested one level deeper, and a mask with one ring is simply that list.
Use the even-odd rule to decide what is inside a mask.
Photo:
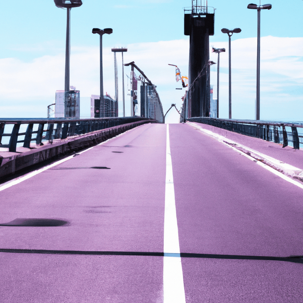
[{"label": "large dark oval shadow on the road at the left edge", "polygon": [[2,223],[0,226],[63,226],[68,224],[68,221],[58,219],[43,219],[43,218],[17,218],[8,223]]}]

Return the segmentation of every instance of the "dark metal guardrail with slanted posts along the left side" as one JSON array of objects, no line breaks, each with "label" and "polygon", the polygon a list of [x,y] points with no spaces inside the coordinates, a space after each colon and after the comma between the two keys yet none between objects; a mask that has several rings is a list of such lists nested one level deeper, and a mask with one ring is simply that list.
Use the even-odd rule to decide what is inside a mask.
[{"label": "dark metal guardrail with slanted posts along the left side", "polygon": [[[114,127],[126,123],[146,120],[142,117],[118,117],[118,118],[91,118],[91,119],[75,119],[75,118],[22,118],[0,119],[0,147],[8,148],[8,151],[15,152],[17,143],[23,143],[23,147],[30,148],[32,141],[36,145],[43,145],[42,140],[52,142],[53,139],[66,139],[70,136],[83,135],[89,132]],[[151,119],[151,121],[154,121]],[[12,125],[12,131],[5,133],[5,126]],[[21,125],[26,125],[25,132],[19,132]],[[34,125],[38,125],[38,129],[33,131]],[[47,129],[45,128],[47,125]],[[36,127],[37,128],[37,127]],[[36,134],[35,138],[32,135]],[[19,137],[24,136],[21,140]],[[2,144],[3,137],[10,137],[8,144]]]}]

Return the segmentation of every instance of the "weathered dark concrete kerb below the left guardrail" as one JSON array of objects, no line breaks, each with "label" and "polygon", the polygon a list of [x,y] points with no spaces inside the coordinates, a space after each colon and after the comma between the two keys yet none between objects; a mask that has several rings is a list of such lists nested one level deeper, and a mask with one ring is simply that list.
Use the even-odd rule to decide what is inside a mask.
[{"label": "weathered dark concrete kerb below the left guardrail", "polygon": [[76,138],[63,139],[59,142],[54,142],[52,145],[34,148],[19,155],[11,155],[8,157],[0,156],[0,178],[6,175],[14,174],[20,169],[27,168],[46,160],[50,160],[57,156],[62,156],[74,151],[88,148],[109,138],[115,137],[116,135],[119,135],[129,129],[151,122],[154,121],[151,121],[149,119],[117,125],[99,131],[90,132],[85,135],[80,135]]}]

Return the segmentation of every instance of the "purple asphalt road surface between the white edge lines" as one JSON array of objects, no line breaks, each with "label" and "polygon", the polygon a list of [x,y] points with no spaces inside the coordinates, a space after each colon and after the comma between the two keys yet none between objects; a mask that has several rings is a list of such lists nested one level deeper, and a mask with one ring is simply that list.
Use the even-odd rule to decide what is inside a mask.
[{"label": "purple asphalt road surface between the white edge lines", "polygon": [[303,301],[303,263],[285,258],[303,255],[303,189],[186,124],[169,151],[167,132],[0,187],[0,302]]}]

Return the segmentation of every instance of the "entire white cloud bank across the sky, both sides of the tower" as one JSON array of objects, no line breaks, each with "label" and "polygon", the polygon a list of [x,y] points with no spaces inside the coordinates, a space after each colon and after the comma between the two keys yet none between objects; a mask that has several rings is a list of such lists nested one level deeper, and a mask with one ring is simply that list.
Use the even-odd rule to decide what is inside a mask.
[{"label": "entire white cloud bank across the sky, both sides of the tower", "polygon": [[[232,112],[233,118],[254,119],[256,38],[232,40]],[[261,118],[303,120],[302,89],[303,38],[261,38]],[[220,116],[228,117],[228,42],[214,42],[216,48],[225,47],[220,54]],[[157,85],[164,113],[176,103],[181,107],[185,90],[175,81],[176,64],[183,75],[188,75],[189,39],[135,43],[126,46],[124,63],[135,64]],[[72,48],[70,62],[70,85],[80,90],[81,97],[99,92],[99,48]],[[111,48],[103,49],[104,92],[114,95],[114,60]],[[217,55],[210,53],[217,62]],[[119,80],[119,107],[122,109],[122,60],[117,53]],[[43,56],[31,62],[16,58],[0,59],[0,112],[1,116],[45,116],[47,105],[54,102],[55,91],[64,88],[64,52]],[[214,71],[215,69],[215,71]],[[130,67],[125,67],[130,74]],[[125,109],[130,111],[125,77]],[[216,65],[211,67],[211,84],[216,84]],[[292,93],[292,91],[296,93]],[[26,101],[26,102],[25,102]],[[87,103],[87,102],[86,102]],[[87,106],[87,105],[86,105]],[[168,117],[178,122],[178,113]],[[263,115],[263,116],[262,116]]]}]

